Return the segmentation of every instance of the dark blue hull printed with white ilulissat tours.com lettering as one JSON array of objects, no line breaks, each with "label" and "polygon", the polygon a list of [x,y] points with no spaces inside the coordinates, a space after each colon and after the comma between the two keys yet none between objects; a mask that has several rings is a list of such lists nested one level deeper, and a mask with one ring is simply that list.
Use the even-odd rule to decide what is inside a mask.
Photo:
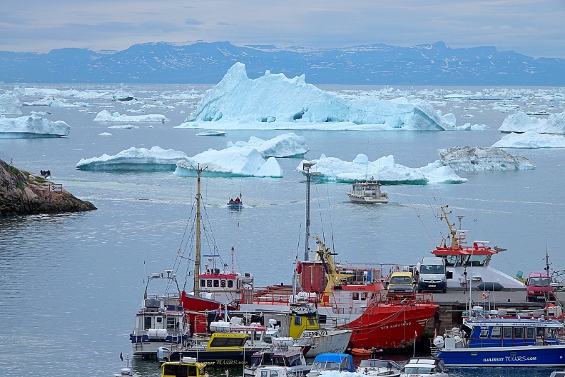
[{"label": "dark blue hull printed with white ilulissat tours.com lettering", "polygon": [[565,344],[504,348],[452,348],[441,350],[446,366],[565,366]]}]

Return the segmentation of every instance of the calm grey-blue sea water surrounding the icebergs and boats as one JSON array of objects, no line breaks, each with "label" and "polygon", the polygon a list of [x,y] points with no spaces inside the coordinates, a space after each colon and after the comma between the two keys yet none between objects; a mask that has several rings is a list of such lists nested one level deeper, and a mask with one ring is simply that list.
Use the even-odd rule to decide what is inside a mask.
[{"label": "calm grey-blue sea water surrounding the icebergs and boats", "polygon": [[[70,86],[56,86],[66,89]],[[2,87],[3,89],[6,86]],[[73,86],[116,91],[117,86]],[[173,129],[193,109],[198,98],[170,98],[170,93],[203,86],[129,86],[138,99],[164,101],[146,114],[165,114],[165,124],[136,124],[138,129],[108,129],[113,123],[94,122],[101,109],[126,113],[138,105],[107,99],[87,108],[24,106],[51,111],[46,117],[63,120],[71,134],[61,139],[0,139],[0,158],[39,173],[49,169],[52,180],[78,198],[93,202],[97,211],[54,216],[0,219],[0,376],[111,376],[123,364],[119,354],[131,354],[128,334],[141,303],[148,273],[172,268],[185,239],[196,193],[195,179],[169,172],[101,173],[78,171],[81,158],[116,154],[131,146],[184,151],[189,156],[209,148],[223,149],[228,141],[250,136],[270,139],[287,131],[229,131],[226,137],[195,136],[198,131]],[[327,87],[330,90],[380,88]],[[429,88],[432,91],[434,88]],[[467,90],[480,91],[482,88]],[[310,147],[307,159],[320,154],[352,161],[366,154],[371,161],[392,154],[397,164],[425,166],[438,159],[437,149],[450,146],[491,146],[511,114],[501,101],[452,101],[408,88],[414,97],[427,97],[444,114],[454,112],[457,124],[487,124],[487,131],[295,131]],[[450,93],[452,89],[444,89]],[[523,91],[510,102],[522,109],[561,112],[559,95]],[[556,91],[559,94],[559,91]],[[27,101],[27,99],[22,99]],[[184,104],[178,104],[183,101]],[[176,104],[176,105],[175,105]],[[108,108],[107,106],[112,106]],[[460,117],[472,114],[473,118]],[[110,132],[112,136],[99,136]],[[327,244],[349,263],[416,263],[441,240],[446,228],[436,215],[449,204],[453,215],[464,215],[468,239],[491,240],[507,248],[492,266],[510,275],[544,267],[546,250],[552,268],[565,269],[559,247],[565,243],[564,149],[511,150],[534,161],[533,171],[464,173],[460,185],[388,186],[390,203],[359,206],[348,202],[347,184],[312,184],[312,233],[324,234]],[[225,263],[235,247],[236,268],[255,276],[257,286],[290,283],[295,254],[302,258],[305,232],[305,179],[295,168],[298,159],[279,159],[283,179],[203,179],[203,199],[210,230]],[[226,208],[230,195],[242,193],[243,211]],[[453,217],[452,221],[457,218]],[[189,226],[190,228],[190,226]],[[184,238],[183,238],[184,237]],[[183,270],[178,272],[181,284]],[[187,288],[191,288],[188,281]],[[142,376],[159,376],[157,363],[134,361]],[[216,371],[216,374],[223,371]],[[234,374],[235,373],[235,374]],[[236,375],[237,371],[231,373]],[[454,370],[454,376],[547,376],[547,370]],[[218,374],[218,375],[219,375]]]}]

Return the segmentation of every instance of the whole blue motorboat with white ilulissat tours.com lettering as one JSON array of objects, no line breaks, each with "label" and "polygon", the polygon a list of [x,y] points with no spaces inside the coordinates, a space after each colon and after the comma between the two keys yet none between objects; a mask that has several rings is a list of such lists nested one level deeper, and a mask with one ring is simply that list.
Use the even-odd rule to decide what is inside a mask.
[{"label": "whole blue motorboat with white ilulissat tours.com lettering", "polygon": [[434,338],[446,366],[565,366],[564,323],[546,318],[478,318]]}]

